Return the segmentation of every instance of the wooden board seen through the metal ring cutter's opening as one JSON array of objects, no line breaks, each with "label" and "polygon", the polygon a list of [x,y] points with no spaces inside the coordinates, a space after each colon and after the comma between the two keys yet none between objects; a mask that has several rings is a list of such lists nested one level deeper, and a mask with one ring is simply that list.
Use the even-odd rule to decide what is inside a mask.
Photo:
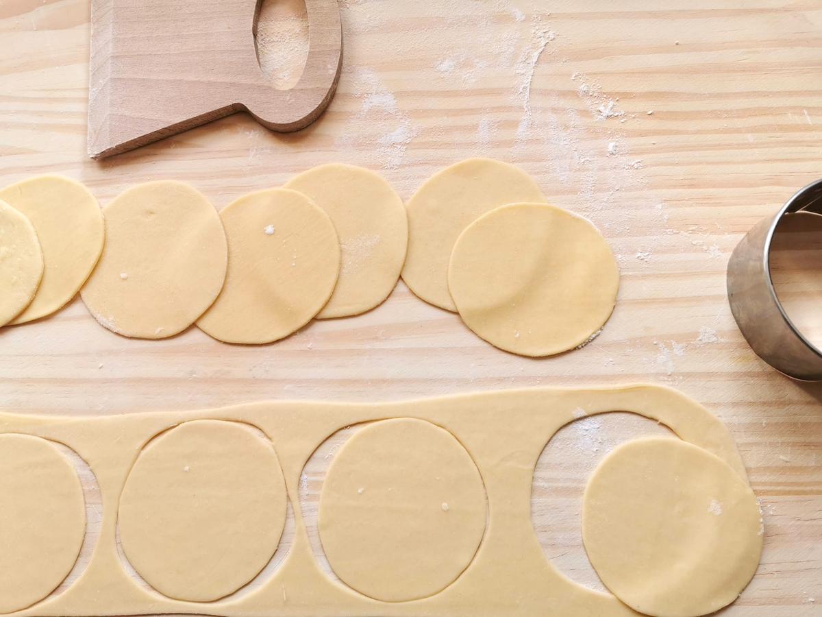
[{"label": "wooden board seen through the metal ring cutter's opening", "polygon": [[787,317],[822,350],[822,216],[783,216],[771,242],[770,273]]}]

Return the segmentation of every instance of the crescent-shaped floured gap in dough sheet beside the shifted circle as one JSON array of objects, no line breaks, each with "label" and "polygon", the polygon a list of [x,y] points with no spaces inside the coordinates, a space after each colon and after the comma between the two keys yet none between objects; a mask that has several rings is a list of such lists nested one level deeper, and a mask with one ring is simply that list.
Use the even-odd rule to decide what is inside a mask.
[{"label": "crescent-shaped floured gap in dough sheet beside the shifted circle", "polygon": [[622,442],[673,436],[664,424],[624,411],[580,417],[559,429],[533,472],[531,522],[543,553],[574,582],[607,591],[582,544],[582,494],[594,467]]}]

